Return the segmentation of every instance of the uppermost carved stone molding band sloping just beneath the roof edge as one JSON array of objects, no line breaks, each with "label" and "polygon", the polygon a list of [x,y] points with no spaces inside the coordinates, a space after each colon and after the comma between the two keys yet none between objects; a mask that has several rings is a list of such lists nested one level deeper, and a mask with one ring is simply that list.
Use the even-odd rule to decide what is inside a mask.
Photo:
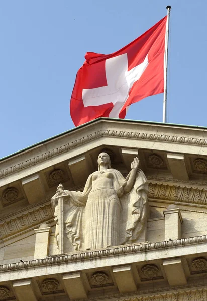
[{"label": "uppermost carved stone molding band sloping just beneath the roof edge", "polygon": [[[185,145],[194,145],[194,146],[207,146],[207,138],[205,138],[205,135],[203,134],[204,129],[197,129],[197,128],[188,128],[188,127],[174,127],[173,130],[177,134],[172,133],[172,129],[169,128],[169,126],[161,126],[161,125],[155,125],[154,126],[154,132],[152,130],[151,124],[144,124],[144,123],[138,123],[138,128],[135,128],[135,131],[123,131],[119,130],[119,127],[122,128],[123,121],[112,121],[112,120],[98,120],[96,123],[88,124],[85,127],[78,128],[77,130],[72,131],[71,133],[66,133],[64,136],[61,136],[59,138],[55,137],[54,140],[57,141],[59,139],[60,143],[59,146],[50,149],[49,143],[51,143],[51,146],[53,143],[50,141],[45,141],[47,143],[48,150],[45,152],[41,152],[41,147],[44,145],[44,142],[40,145],[34,146],[32,149],[25,150],[25,154],[27,154],[27,159],[25,161],[21,161],[21,156],[23,153],[14,155],[16,158],[20,158],[19,162],[16,162],[14,165],[10,165],[8,168],[3,168],[0,170],[0,179],[4,178],[10,174],[20,172],[23,169],[26,169],[28,167],[34,166],[35,164],[42,163],[46,160],[50,160],[51,158],[58,156],[62,153],[67,152],[70,149],[73,149],[77,146],[83,145],[85,143],[88,143],[92,140],[95,140],[99,137],[115,137],[115,138],[127,138],[127,139],[135,139],[135,140],[146,140],[146,141],[153,141],[153,142],[169,142],[170,144],[176,143],[176,144],[185,144]],[[125,127],[128,128],[130,125],[132,127],[135,127],[136,124],[133,124],[133,122],[124,122]],[[113,129],[100,129],[95,131],[95,128],[113,128],[113,126],[117,126],[115,130]],[[136,131],[136,130],[139,131]],[[162,133],[159,133],[159,130],[162,130]],[[81,131],[83,132],[90,132],[85,135],[81,135]],[[186,131],[189,131],[189,135],[186,135]],[[184,132],[184,135],[181,133]],[[199,133],[200,132],[200,136]],[[169,134],[170,133],[170,134]],[[71,138],[73,136],[77,136],[77,134],[81,135],[78,139],[73,139],[72,141],[68,143],[63,143],[64,137],[71,135]],[[52,139],[52,141],[54,141]],[[61,142],[62,141],[62,142]],[[32,156],[29,158],[29,153],[33,149],[39,148],[39,154],[37,156]],[[32,153],[32,152],[31,152]],[[38,153],[38,152],[37,152]],[[3,164],[4,162],[8,162],[9,160],[13,161],[14,157],[6,158],[1,162]],[[1,165],[0,165],[1,166]]]}]

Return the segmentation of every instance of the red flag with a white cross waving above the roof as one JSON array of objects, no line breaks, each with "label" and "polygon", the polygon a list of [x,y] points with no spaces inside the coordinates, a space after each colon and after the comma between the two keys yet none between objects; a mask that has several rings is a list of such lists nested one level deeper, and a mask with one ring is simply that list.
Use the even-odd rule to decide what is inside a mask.
[{"label": "red flag with a white cross waving above the roof", "polygon": [[70,100],[75,126],[99,117],[124,118],[130,104],[163,93],[166,20],[117,52],[86,53]]}]

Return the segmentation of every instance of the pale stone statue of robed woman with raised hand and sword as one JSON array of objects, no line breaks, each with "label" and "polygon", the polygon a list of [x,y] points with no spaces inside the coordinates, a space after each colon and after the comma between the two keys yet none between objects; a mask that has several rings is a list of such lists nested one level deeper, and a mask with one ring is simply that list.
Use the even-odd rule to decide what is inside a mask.
[{"label": "pale stone statue of robed woman with raised hand and sword", "polygon": [[118,170],[111,168],[109,155],[101,153],[98,156],[98,171],[88,177],[83,192],[64,190],[60,184],[52,197],[57,245],[58,212],[61,212],[57,200],[60,198],[67,203],[67,208],[62,209],[62,222],[74,250],[136,242],[145,222],[148,198],[147,179],[138,166],[139,159],[136,157],[125,179]]}]

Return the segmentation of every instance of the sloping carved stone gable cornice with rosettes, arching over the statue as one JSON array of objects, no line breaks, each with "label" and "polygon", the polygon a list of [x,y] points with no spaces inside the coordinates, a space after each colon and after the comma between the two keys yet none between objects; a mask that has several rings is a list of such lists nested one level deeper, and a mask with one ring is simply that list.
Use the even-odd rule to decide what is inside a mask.
[{"label": "sloping carved stone gable cornice with rosettes, arching over the statue", "polygon": [[103,150],[124,176],[139,156],[149,181],[150,219],[163,218],[170,204],[202,218],[206,144],[206,131],[196,127],[100,118],[9,156],[0,161],[2,237],[51,222],[50,199],[58,184],[82,190],[88,175],[97,170],[97,156]]}]

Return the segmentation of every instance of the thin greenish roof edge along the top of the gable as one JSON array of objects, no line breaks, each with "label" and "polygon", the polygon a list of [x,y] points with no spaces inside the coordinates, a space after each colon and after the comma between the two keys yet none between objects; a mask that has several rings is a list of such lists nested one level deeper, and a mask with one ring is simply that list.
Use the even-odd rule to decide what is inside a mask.
[{"label": "thin greenish roof edge along the top of the gable", "polygon": [[69,129],[69,130],[67,130],[67,131],[65,131],[65,132],[62,132],[62,133],[60,133],[60,134],[58,134],[58,135],[52,136],[52,137],[50,137],[50,138],[47,138],[47,139],[45,139],[45,140],[43,140],[43,141],[37,142],[37,143],[35,143],[35,144],[32,144],[32,145],[30,145],[30,146],[28,146],[28,147],[26,147],[26,148],[20,149],[20,150],[18,150],[18,151],[15,152],[15,153],[12,153],[12,154],[10,154],[10,155],[8,155],[8,156],[5,156],[5,157],[3,157],[3,158],[0,158],[0,161],[3,161],[3,160],[5,160],[5,159],[9,159],[9,158],[11,158],[11,157],[13,157],[13,156],[15,156],[15,155],[18,155],[18,154],[20,154],[20,153],[25,152],[26,150],[28,150],[28,149],[30,149],[30,148],[33,148],[33,147],[38,146],[38,145],[40,145],[40,144],[46,143],[46,142],[48,142],[48,141],[50,141],[50,140],[53,140],[53,139],[58,138],[58,137],[61,137],[61,136],[65,135],[65,134],[67,134],[67,133],[73,132],[73,131],[76,130],[76,129],[82,128],[82,127],[84,127],[84,126],[87,126],[87,125],[89,125],[89,124],[91,124],[91,123],[95,123],[95,122],[100,121],[100,120],[107,120],[107,121],[108,121],[108,120],[111,120],[111,121],[133,122],[133,123],[146,123],[146,124],[155,124],[155,125],[162,125],[162,126],[189,127],[189,128],[192,128],[192,129],[193,129],[193,128],[198,128],[198,129],[204,129],[204,130],[207,130],[207,127],[205,127],[205,126],[198,126],[198,125],[185,125],[185,124],[176,124],[176,123],[163,123],[163,122],[156,122],[156,121],[141,121],[141,120],[130,120],[130,119],[120,119],[120,118],[100,117],[100,118],[94,119],[94,120],[92,120],[92,121],[89,121],[89,122],[87,122],[87,123],[84,123],[84,124],[82,124],[82,125],[79,125],[79,126],[77,126],[77,127],[74,127],[74,128],[72,128],[72,129]]}]

